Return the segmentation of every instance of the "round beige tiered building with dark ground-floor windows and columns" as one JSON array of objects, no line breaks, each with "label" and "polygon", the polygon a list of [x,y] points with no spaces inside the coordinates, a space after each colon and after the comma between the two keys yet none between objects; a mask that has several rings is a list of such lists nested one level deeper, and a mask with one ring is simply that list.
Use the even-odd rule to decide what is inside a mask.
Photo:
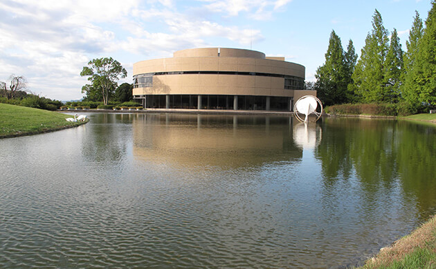
[{"label": "round beige tiered building with dark ground-floor windows and columns", "polygon": [[194,48],[134,63],[134,98],[145,108],[291,110],[305,67],[235,48]]}]

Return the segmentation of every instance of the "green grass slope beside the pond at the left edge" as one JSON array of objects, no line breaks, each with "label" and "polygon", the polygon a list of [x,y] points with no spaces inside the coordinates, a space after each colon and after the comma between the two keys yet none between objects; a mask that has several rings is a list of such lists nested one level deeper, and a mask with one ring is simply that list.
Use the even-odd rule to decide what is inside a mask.
[{"label": "green grass slope beside the pond at the left edge", "polygon": [[0,138],[34,135],[80,126],[87,121],[69,122],[59,112],[0,103]]}]

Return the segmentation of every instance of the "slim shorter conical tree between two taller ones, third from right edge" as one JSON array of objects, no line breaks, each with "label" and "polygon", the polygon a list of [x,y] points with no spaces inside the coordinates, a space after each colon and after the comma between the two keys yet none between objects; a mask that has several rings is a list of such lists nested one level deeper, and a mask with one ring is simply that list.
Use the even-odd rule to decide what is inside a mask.
[{"label": "slim shorter conical tree between two taller ones, third from right edge", "polygon": [[385,99],[396,103],[399,99],[400,85],[403,72],[403,50],[397,34],[397,29],[394,28],[392,37],[390,38],[390,46],[385,60]]}]

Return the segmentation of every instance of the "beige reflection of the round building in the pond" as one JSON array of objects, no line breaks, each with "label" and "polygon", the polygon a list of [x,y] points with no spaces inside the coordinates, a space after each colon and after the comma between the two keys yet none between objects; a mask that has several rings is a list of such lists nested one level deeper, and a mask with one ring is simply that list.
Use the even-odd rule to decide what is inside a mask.
[{"label": "beige reflection of the round building in the pond", "polygon": [[233,168],[298,161],[302,148],[294,142],[300,139],[293,138],[293,123],[292,117],[138,114],[132,123],[134,156],[172,165]]}]

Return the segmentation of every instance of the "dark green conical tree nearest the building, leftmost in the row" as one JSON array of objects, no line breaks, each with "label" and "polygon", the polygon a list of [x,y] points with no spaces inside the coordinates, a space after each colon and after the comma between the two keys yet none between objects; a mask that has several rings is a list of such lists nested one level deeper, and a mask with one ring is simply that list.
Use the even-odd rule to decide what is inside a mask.
[{"label": "dark green conical tree nearest the building, leftmost in the row", "polygon": [[318,97],[325,105],[345,103],[347,101],[346,80],[347,68],[345,67],[344,52],[340,37],[331,31],[329,48],[325,53],[325,63],[316,70],[315,89]]}]

